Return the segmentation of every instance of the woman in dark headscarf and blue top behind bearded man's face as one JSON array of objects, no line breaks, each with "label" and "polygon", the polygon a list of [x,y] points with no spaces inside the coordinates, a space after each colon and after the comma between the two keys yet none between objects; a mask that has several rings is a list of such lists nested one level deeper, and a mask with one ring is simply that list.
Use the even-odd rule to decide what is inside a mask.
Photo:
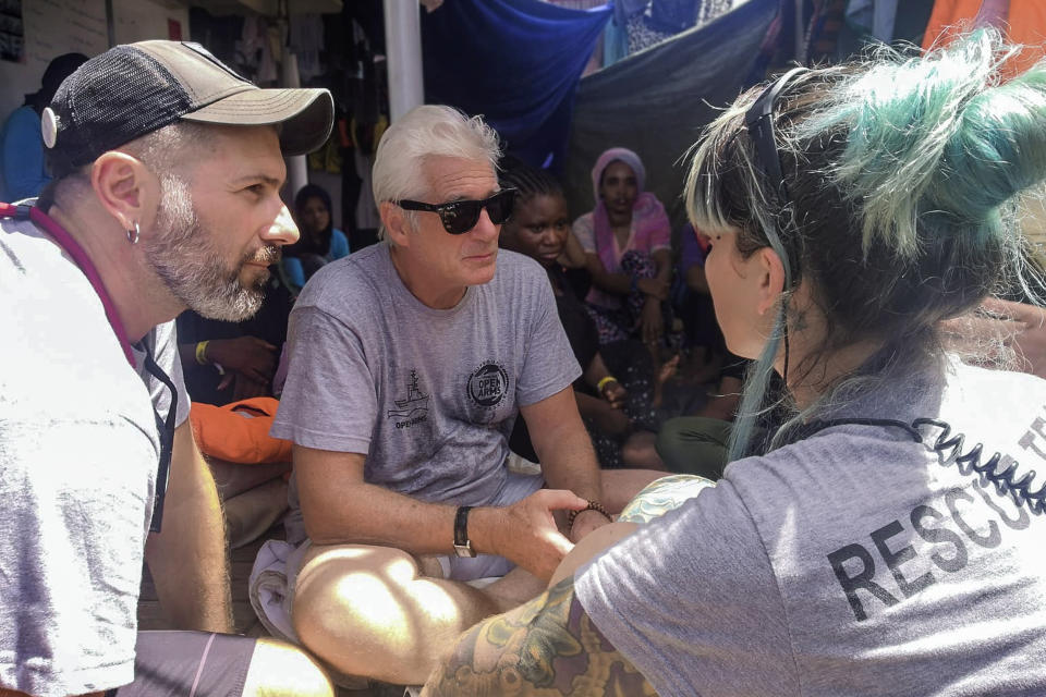
[{"label": "woman in dark headscarf and blue top behind bearded man's face", "polygon": [[294,221],[300,237],[283,247],[282,271],[296,296],[313,273],[335,259],[349,256],[349,237],[335,228],[330,194],[323,186],[306,184],[294,197]]}]

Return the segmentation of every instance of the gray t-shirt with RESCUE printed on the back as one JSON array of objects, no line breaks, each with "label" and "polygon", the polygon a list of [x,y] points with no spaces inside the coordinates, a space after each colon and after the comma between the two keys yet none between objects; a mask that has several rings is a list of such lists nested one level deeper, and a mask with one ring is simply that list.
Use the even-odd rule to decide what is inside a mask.
[{"label": "gray t-shirt with RESCUE printed on the back", "polygon": [[[840,416],[939,418],[1043,472],[1046,381],[953,365],[888,388]],[[903,431],[840,426],[730,464],[575,589],[665,697],[1044,695],[1044,542],[1046,515]]]}]

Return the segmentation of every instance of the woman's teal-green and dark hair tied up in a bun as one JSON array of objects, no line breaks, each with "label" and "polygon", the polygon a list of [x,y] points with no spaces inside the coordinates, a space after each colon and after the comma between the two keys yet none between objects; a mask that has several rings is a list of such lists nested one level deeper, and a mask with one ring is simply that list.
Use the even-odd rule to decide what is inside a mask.
[{"label": "woman's teal-green and dark hair tied up in a bun", "polygon": [[[982,29],[925,57],[881,47],[795,76],[775,105],[783,209],[744,126],[761,88],[695,145],[684,194],[693,223],[737,229],[742,254],[767,246],[776,225],[795,282],[810,283],[828,333],[806,372],[860,341],[881,346],[868,364],[880,375],[903,370],[939,354],[941,319],[1014,283],[1029,290],[1015,212],[1046,181],[1046,62],[1004,83],[1000,68],[1015,51]],[[766,408],[787,321],[750,370],[732,457]],[[856,377],[843,376],[802,417]]]}]

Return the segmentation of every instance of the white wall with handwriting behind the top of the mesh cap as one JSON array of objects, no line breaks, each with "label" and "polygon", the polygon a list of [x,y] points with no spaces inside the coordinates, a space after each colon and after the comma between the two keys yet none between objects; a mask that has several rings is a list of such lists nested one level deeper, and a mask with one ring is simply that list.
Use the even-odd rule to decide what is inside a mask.
[{"label": "white wall with handwriting behind the top of the mesh cap", "polygon": [[[181,23],[188,39],[188,10],[154,0],[113,0],[117,41],[168,38],[168,19]],[[40,88],[56,56],[78,51],[96,56],[109,48],[105,0],[22,0],[25,62],[0,61],[0,123]]]}]

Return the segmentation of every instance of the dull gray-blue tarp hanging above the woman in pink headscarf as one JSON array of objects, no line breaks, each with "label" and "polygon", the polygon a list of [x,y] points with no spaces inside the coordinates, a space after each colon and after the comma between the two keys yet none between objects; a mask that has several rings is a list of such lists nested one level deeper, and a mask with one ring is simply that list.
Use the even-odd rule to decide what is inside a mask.
[{"label": "dull gray-blue tarp hanging above the woman in pink headscarf", "polygon": [[665,204],[673,228],[681,227],[685,172],[677,161],[745,86],[777,10],[777,0],[749,0],[583,78],[564,178],[570,210],[594,208],[588,168],[608,145],[620,145],[643,154],[646,189]]}]

